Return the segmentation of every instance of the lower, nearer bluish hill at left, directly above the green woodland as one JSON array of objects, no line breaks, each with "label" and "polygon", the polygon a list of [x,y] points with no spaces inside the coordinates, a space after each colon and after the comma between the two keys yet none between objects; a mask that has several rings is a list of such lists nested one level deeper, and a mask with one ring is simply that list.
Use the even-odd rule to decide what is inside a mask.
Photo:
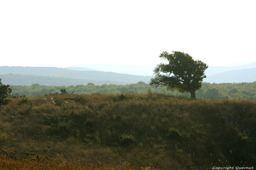
[{"label": "lower, nearer bluish hill at left, directly above the green woodland", "polygon": [[127,83],[110,81],[110,80],[84,80],[84,79],[71,79],[61,78],[56,76],[34,76],[34,75],[22,75],[22,74],[3,74],[0,75],[3,84],[11,85],[26,85],[31,86],[32,84],[41,84],[45,86],[76,86],[79,84],[86,85],[87,83],[94,83],[95,85],[102,84],[118,84],[124,85]]}]

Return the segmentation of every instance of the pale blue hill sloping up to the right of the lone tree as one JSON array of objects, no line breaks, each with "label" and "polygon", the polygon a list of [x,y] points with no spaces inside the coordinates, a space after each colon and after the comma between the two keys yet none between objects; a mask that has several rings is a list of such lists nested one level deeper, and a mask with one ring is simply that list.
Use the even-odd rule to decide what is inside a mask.
[{"label": "pale blue hill sloping up to the right of the lone tree", "polygon": [[240,83],[255,81],[256,68],[226,71],[214,74],[204,79],[204,82],[208,83]]}]

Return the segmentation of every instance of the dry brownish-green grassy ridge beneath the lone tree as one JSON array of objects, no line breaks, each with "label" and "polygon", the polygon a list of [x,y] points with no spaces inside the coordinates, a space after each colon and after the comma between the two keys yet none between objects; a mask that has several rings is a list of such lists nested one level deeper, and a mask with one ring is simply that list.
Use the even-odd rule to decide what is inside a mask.
[{"label": "dry brownish-green grassy ridge beneath the lone tree", "polygon": [[0,107],[0,154],[154,169],[255,166],[256,103],[160,94],[52,95]]}]

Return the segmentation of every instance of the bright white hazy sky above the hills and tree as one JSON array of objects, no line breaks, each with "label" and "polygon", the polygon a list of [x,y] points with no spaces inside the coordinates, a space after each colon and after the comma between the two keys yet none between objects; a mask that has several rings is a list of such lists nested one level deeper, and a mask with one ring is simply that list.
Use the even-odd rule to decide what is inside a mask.
[{"label": "bright white hazy sky above the hills and tree", "polygon": [[0,66],[256,62],[256,1],[1,0]]}]

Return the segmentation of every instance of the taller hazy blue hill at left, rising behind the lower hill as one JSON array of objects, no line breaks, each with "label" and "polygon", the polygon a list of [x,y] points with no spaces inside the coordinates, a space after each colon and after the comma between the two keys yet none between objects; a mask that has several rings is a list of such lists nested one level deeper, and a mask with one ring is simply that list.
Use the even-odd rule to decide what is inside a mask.
[{"label": "taller hazy blue hill at left, rising behind the lower hill", "polygon": [[[118,74],[103,71],[75,71],[57,67],[8,67],[0,66],[0,74],[22,74],[34,76],[56,76],[60,78],[93,80],[103,82],[122,82],[121,84],[137,83],[143,81],[148,83],[153,76],[138,76],[129,74]],[[119,83],[120,84],[120,83]]]}]

